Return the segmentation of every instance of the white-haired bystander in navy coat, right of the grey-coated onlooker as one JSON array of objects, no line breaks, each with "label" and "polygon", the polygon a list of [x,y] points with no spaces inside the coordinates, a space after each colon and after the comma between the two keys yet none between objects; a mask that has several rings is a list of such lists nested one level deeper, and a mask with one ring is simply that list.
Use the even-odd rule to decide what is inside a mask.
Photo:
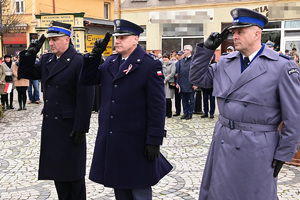
[{"label": "white-haired bystander in navy coat, right of the grey-coated onlooker", "polygon": [[183,116],[180,119],[190,120],[192,119],[194,106],[195,106],[195,90],[198,88],[190,83],[190,65],[192,62],[191,45],[184,46],[184,59],[179,61],[177,85],[182,100]]}]

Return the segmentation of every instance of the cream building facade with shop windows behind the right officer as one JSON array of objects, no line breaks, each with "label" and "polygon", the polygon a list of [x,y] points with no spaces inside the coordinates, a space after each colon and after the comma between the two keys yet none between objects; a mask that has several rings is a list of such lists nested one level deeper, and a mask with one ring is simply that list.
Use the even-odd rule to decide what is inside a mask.
[{"label": "cream building facade with shop windows behind the right officer", "polygon": [[[233,1],[233,0],[115,0],[115,18],[133,21],[145,28],[140,43],[147,51],[170,52],[193,47],[211,32],[221,32],[232,23],[230,11],[244,7],[256,10],[269,19],[262,42],[275,42],[275,50],[300,49],[299,1]],[[231,39],[216,52],[225,52]],[[217,56],[218,56],[217,55]]]}]

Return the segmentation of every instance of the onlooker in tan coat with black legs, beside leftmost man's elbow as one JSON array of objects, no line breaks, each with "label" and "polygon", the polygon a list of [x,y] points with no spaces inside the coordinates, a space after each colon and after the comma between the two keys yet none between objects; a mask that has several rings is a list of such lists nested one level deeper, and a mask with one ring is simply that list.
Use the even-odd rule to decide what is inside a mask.
[{"label": "onlooker in tan coat with black legs, beside leftmost man's elbow", "polygon": [[20,78],[18,76],[18,67],[19,67],[19,56],[16,58],[17,60],[13,63],[13,74],[14,74],[14,81],[15,86],[18,91],[18,103],[19,103],[19,109],[20,110],[27,110],[26,109],[26,101],[27,101],[27,95],[26,90],[29,86],[29,80]]}]

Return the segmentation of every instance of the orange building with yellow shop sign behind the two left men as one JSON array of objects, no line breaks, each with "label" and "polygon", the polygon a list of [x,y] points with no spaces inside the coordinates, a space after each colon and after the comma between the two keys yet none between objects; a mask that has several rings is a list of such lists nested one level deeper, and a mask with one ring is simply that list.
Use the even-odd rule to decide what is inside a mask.
[{"label": "orange building with yellow shop sign behind the two left men", "polygon": [[[46,33],[51,20],[72,24],[73,43],[81,53],[93,45],[95,38],[102,38],[107,31],[113,31],[113,0],[11,0],[10,8],[9,14],[19,15],[21,20],[13,30],[3,34],[1,55],[15,55],[26,49],[32,39]],[[2,13],[4,17],[5,14]],[[47,48],[48,41],[41,53]]]}]

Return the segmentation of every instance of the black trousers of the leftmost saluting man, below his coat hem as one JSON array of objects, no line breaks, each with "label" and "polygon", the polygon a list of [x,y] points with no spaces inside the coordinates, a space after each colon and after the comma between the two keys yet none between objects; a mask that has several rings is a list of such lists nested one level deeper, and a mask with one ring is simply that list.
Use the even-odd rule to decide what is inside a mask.
[{"label": "black trousers of the leftmost saluting man, below his coat hem", "polygon": [[59,200],[86,200],[85,178],[77,181],[54,181]]}]

